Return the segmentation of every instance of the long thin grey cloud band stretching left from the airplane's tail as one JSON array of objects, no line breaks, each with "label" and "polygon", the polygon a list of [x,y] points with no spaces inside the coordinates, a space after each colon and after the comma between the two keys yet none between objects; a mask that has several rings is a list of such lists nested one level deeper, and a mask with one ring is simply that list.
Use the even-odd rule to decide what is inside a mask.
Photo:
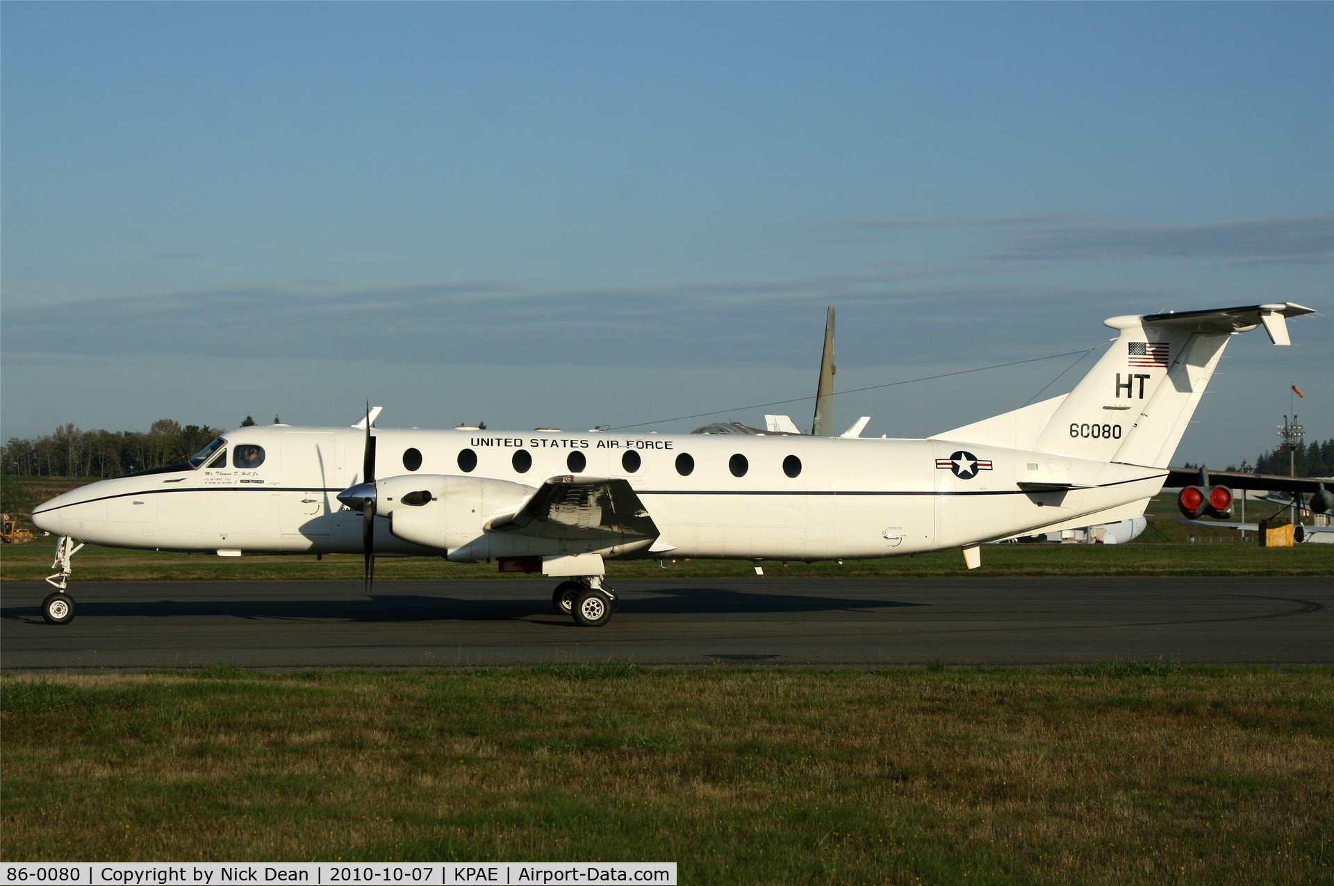
[{"label": "long thin grey cloud band stretching left from the airplane's tail", "polygon": [[[387,363],[602,367],[804,366],[824,307],[862,362],[974,359],[1097,339],[1107,304],[1162,292],[910,287],[920,274],[823,275],[663,288],[524,291],[502,283],[311,294],[248,288],[4,311],[7,354],[45,342],[91,356],[208,355]],[[1059,322],[1058,322],[1059,319]],[[931,330],[923,335],[923,330]],[[1061,338],[1053,339],[1053,332]],[[848,360],[844,360],[848,362]]]}]

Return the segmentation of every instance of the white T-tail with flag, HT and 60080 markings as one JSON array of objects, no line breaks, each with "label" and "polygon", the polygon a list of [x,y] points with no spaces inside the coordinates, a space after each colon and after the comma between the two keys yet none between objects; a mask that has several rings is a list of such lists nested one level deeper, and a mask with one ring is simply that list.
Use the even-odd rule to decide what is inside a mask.
[{"label": "white T-tail with flag, HT and 60080 markings", "polygon": [[1235,332],[1263,324],[1287,344],[1299,304],[1114,316],[1121,335],[1057,407],[1035,450],[1102,462],[1166,467]]}]

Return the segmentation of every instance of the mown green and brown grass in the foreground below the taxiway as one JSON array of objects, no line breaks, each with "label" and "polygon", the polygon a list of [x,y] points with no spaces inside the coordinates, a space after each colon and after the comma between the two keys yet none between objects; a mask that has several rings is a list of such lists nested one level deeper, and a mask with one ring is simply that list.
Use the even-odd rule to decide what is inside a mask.
[{"label": "mown green and brown grass in the foreground below the taxiway", "polygon": [[1334,877],[1334,669],[0,678],[0,855],[655,859],[683,883]]}]

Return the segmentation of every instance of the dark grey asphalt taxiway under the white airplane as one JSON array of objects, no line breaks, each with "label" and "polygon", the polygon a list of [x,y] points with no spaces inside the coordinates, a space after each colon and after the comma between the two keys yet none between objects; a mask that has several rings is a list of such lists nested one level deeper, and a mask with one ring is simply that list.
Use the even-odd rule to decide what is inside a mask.
[{"label": "dark grey asphalt taxiway under the white airplane", "polygon": [[602,628],[552,580],[0,586],[0,667],[1334,662],[1334,578],[634,579]]}]

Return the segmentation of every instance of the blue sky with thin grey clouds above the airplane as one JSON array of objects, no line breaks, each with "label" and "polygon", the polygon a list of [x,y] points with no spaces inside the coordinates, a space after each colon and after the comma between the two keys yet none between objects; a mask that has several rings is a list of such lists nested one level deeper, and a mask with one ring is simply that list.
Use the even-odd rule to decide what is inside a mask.
[{"label": "blue sky with thin grey clouds above the airplane", "polygon": [[[1297,302],[1178,450],[1334,436],[1334,4],[0,5],[0,436],[920,436]],[[1034,360],[998,370],[983,367]],[[718,412],[704,418],[702,414]],[[662,422],[663,419],[676,419]]]}]

